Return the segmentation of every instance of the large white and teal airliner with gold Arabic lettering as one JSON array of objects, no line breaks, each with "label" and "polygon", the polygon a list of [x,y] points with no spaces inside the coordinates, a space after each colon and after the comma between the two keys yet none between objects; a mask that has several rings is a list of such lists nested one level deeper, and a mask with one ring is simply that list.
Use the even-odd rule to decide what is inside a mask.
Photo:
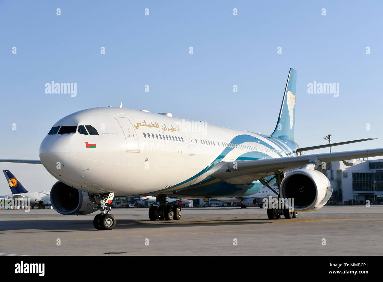
[{"label": "large white and teal airliner with gold Arabic lettering", "polygon": [[[268,218],[294,211],[314,211],[332,194],[323,174],[330,162],[383,155],[383,148],[298,155],[321,145],[299,148],[294,141],[296,71],[290,69],[277,125],[271,135],[207,125],[121,107],[100,107],[67,115],[53,125],[41,143],[40,160],[57,181],[51,203],[61,214],[100,211],[97,229],[110,230],[114,196],[155,195],[149,218],[179,219],[181,209],[166,197],[217,198],[257,193],[271,181],[279,187],[285,208],[268,208]],[[198,124],[198,122],[197,122]],[[349,141],[344,143],[357,142]],[[352,164],[352,161],[345,163]],[[259,180],[259,181],[258,181]],[[294,204],[285,199],[294,199]],[[177,216],[174,216],[177,214]]]}]

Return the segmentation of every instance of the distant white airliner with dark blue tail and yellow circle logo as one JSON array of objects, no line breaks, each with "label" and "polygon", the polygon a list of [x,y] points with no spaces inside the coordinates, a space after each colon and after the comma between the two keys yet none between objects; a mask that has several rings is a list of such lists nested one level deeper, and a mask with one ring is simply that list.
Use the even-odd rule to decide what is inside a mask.
[{"label": "distant white airliner with dark blue tail and yellow circle logo", "polygon": [[3,170],[3,173],[12,192],[12,195],[7,195],[8,199],[24,198],[31,199],[31,205],[51,205],[50,194],[46,192],[28,192],[9,170]]}]

